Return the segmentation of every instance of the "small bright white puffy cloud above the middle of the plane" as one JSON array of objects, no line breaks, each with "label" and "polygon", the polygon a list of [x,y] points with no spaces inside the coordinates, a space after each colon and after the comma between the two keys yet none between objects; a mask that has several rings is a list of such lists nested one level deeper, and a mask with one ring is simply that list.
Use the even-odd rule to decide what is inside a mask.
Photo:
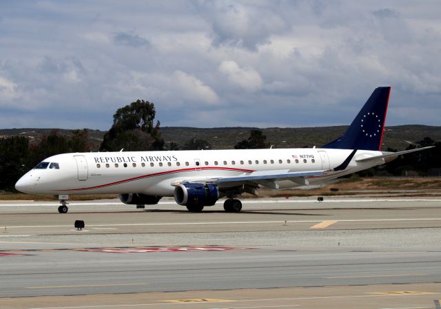
[{"label": "small bright white puffy cloud above the middle of the plane", "polygon": [[228,77],[230,83],[247,91],[256,92],[262,87],[262,78],[252,67],[239,67],[236,61],[229,60],[222,61],[218,70]]}]

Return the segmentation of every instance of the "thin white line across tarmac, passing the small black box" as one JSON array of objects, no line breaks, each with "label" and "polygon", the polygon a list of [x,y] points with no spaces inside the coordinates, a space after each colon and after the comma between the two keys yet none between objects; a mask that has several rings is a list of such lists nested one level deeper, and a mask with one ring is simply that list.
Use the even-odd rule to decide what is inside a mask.
[{"label": "thin white line across tarmac, passing the small black box", "polygon": [[[409,222],[409,221],[440,221],[441,218],[407,218],[407,219],[354,219],[337,220],[338,222]],[[232,222],[172,222],[172,223],[127,223],[127,224],[88,224],[88,227],[95,226],[174,226],[174,225],[219,225],[219,224],[283,224],[285,221],[232,221]],[[322,220],[287,220],[287,223],[315,223]],[[72,225],[32,225],[32,226],[8,226],[8,228],[71,228]],[[72,230],[76,231],[76,230]],[[32,236],[32,235],[30,235]],[[0,235],[9,237],[9,235]]]}]

